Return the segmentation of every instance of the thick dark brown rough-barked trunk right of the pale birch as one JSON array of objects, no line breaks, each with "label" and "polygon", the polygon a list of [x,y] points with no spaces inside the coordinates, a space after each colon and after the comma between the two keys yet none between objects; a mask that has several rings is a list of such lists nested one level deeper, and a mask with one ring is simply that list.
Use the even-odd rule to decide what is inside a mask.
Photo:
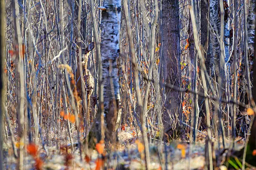
[{"label": "thick dark brown rough-barked trunk right of the pale birch", "polygon": [[[180,45],[179,45],[179,0],[162,0],[162,51],[161,60],[164,72],[164,83],[176,87],[181,85]],[[181,93],[173,89],[165,89],[166,101],[163,114],[164,132],[174,135],[178,119],[182,121],[180,112]],[[172,118],[171,118],[172,117]],[[166,136],[164,136],[166,138]]]}]

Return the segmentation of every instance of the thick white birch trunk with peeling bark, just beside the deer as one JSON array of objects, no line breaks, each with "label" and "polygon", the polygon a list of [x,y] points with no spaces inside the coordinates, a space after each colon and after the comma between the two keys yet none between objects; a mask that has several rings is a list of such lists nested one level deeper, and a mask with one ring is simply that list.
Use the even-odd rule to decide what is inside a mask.
[{"label": "thick white birch trunk with peeling bark, just beside the deer", "polygon": [[104,0],[101,23],[102,83],[104,85],[104,113],[107,128],[105,140],[116,141],[116,124],[120,113],[120,92],[117,60],[119,57],[120,0]]}]

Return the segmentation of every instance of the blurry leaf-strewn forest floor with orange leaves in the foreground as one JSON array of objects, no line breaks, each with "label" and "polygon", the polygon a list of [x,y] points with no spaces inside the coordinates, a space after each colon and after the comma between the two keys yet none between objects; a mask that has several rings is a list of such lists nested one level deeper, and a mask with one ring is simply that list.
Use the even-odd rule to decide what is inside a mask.
[{"label": "blurry leaf-strewn forest floor with orange leaves in the foreground", "polygon": [[[99,148],[90,149],[88,155],[80,155],[79,148],[72,147],[67,137],[67,130],[61,130],[59,135],[52,133],[51,144],[46,147],[46,150],[38,144],[36,151],[31,149],[31,146],[26,145],[26,150],[30,152],[24,155],[25,170],[42,169],[42,170],[100,170],[103,169],[120,169],[120,170],[137,170],[145,169],[144,163],[144,148],[141,142],[141,135],[135,133],[130,127],[118,130],[119,144],[116,145],[115,151],[105,152],[99,154]],[[14,134],[16,140],[17,134]],[[56,137],[57,136],[57,137]],[[77,139],[76,131],[72,130],[72,138],[75,143]],[[150,169],[174,169],[174,170],[187,170],[187,169],[204,169],[205,168],[205,138],[206,132],[198,134],[197,143],[190,144],[189,141],[172,141],[169,144],[164,144],[155,140],[150,146]],[[39,138],[38,138],[39,140]],[[5,169],[18,169],[18,160],[14,158],[11,140],[4,143],[4,166]],[[58,142],[58,146],[56,145]],[[238,140],[237,148],[244,145],[244,140]],[[15,143],[15,147],[19,147]],[[104,145],[104,144],[101,144]],[[28,147],[29,146],[29,147]],[[218,148],[215,146],[215,148]],[[216,153],[221,153],[223,148],[215,150]],[[102,156],[105,155],[105,156]],[[225,154],[219,154],[218,160],[224,158]],[[222,158],[223,157],[223,158]],[[82,158],[82,159],[81,159]],[[165,161],[167,160],[167,161]],[[166,163],[167,162],[167,163]],[[228,168],[230,169],[230,168]],[[232,168],[231,168],[232,169]]]}]

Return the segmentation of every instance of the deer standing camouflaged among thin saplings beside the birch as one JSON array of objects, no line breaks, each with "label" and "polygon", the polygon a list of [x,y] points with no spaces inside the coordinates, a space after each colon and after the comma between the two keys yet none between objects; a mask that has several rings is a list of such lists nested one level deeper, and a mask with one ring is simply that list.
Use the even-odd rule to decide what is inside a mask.
[{"label": "deer standing camouflaged among thin saplings beside the birch", "polygon": [[[87,69],[87,65],[88,65],[88,58],[89,55],[91,54],[91,51],[94,49],[95,45],[94,42],[90,43],[84,54],[82,54],[82,66],[83,66],[83,75],[84,75],[84,84],[85,84],[85,89],[87,91],[87,110],[88,110],[88,120],[90,122],[90,101],[91,101],[91,95],[93,93],[93,89],[94,89],[94,77],[92,76],[91,72],[89,69]],[[79,113],[82,112],[82,84],[81,84],[81,76],[80,76],[80,68],[79,68],[79,55],[77,55],[77,71],[76,71],[76,87],[77,87],[77,95],[79,98],[78,101],[78,109],[79,109]]]}]

